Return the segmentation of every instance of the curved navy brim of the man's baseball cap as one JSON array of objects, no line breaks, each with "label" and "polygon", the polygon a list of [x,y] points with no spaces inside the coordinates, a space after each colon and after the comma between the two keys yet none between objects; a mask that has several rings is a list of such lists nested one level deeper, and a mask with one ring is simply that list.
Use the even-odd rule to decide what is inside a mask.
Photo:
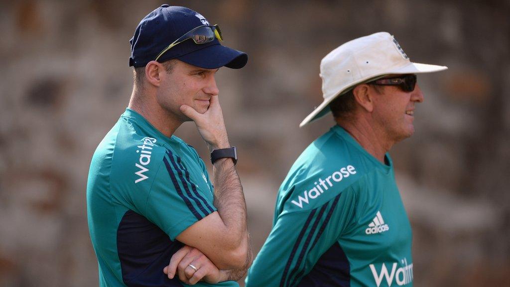
[{"label": "curved navy brim of the man's baseball cap", "polygon": [[240,69],[248,62],[248,55],[218,43],[176,57],[176,59],[205,69],[216,69],[223,66]]}]

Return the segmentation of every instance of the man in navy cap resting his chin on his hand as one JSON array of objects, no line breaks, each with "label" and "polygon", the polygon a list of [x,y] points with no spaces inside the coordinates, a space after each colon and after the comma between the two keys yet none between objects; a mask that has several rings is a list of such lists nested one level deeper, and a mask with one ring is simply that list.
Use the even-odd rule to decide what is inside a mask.
[{"label": "man in navy cap resting his chin on his hand", "polygon": [[[100,286],[238,286],[229,280],[250,265],[237,151],[214,78],[222,66],[243,67],[247,55],[221,41],[201,14],[169,5],[143,18],[130,40],[133,93],[99,143],[87,183]],[[212,180],[173,135],[187,121],[211,151]]]}]

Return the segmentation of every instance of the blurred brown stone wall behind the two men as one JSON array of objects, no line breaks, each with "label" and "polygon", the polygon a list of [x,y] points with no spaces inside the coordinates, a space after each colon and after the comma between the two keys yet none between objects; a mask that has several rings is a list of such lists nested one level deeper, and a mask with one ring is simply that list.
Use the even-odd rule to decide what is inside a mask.
[{"label": "blurred brown stone wall behind the two men", "polygon": [[[1,286],[98,284],[90,158],[131,94],[129,39],[163,3],[0,2]],[[391,152],[414,230],[415,284],[510,284],[509,1],[168,3],[219,23],[225,44],[249,55],[217,81],[254,250],[292,162],[333,125],[326,117],[298,128],[322,101],[321,58],[388,31],[413,61],[449,67],[419,77],[417,131]],[[176,134],[208,158],[192,123]]]}]

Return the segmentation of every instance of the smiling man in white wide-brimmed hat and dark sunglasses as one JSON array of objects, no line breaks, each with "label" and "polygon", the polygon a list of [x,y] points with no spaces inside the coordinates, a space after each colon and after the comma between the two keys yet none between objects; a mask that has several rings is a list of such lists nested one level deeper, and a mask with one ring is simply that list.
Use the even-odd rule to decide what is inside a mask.
[{"label": "smiling man in white wide-brimmed hat and dark sunglasses", "polygon": [[388,154],[414,132],[423,93],[386,32],[349,41],[320,65],[324,102],[300,127],[336,125],[304,150],[278,190],[273,228],[246,287],[412,286],[412,232]]}]

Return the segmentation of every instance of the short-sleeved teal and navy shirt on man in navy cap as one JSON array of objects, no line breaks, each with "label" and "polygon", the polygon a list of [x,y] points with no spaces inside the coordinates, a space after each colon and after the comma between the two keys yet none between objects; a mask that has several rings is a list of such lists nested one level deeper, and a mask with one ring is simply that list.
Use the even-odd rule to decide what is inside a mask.
[{"label": "short-sleeved teal and navy shirt on man in navy cap", "polygon": [[[214,212],[213,186],[196,151],[131,109],[99,143],[87,182],[99,286],[188,286],[163,268],[186,228]],[[195,286],[239,286],[198,282]]]}]

